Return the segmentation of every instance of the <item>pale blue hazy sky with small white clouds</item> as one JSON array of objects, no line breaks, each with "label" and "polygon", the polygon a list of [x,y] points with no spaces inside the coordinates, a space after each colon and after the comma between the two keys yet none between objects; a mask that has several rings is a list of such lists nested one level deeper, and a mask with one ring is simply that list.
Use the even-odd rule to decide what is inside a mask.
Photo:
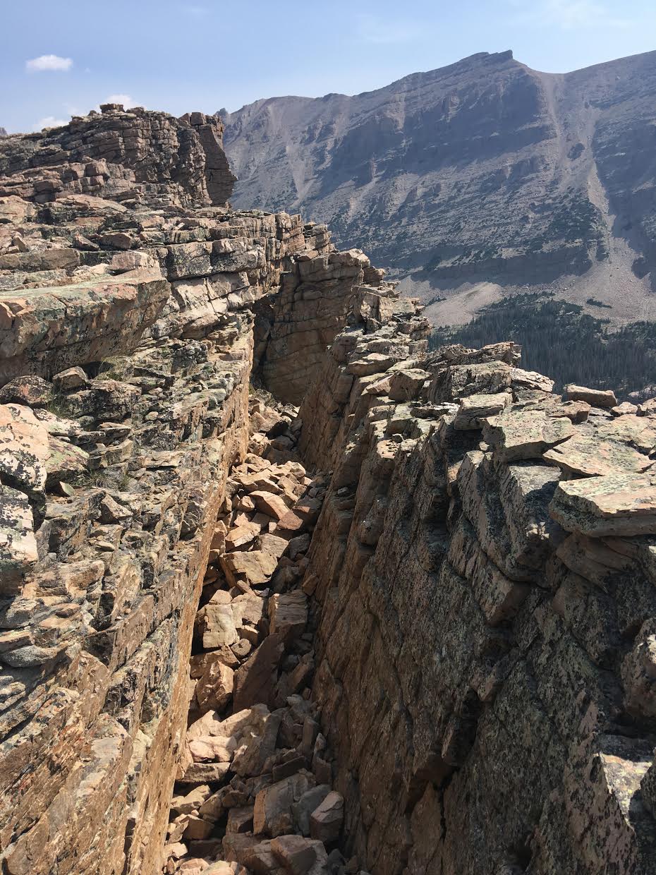
[{"label": "pale blue hazy sky with small white clouds", "polygon": [[656,0],[0,0],[0,127],[359,94],[506,49],[548,73],[650,52]]}]

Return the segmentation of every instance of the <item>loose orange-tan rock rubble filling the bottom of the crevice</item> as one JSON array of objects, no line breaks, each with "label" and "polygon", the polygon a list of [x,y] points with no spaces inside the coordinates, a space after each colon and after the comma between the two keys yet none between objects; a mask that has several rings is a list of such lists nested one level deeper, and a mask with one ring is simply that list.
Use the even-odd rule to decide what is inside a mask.
[{"label": "loose orange-tan rock rubble filling the bottom of the crevice", "polygon": [[164,872],[356,872],[338,850],[344,798],[311,699],[301,587],[327,478],[297,461],[297,408],[255,399],[250,422],[255,452],[230,474],[196,615]]}]

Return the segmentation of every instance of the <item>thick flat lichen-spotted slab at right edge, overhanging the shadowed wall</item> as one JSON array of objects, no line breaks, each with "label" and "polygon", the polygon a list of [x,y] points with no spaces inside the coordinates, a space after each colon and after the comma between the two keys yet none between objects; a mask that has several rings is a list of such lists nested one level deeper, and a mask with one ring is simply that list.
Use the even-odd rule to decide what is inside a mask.
[{"label": "thick flat lichen-spotted slab at right edge, overhanging the shadowed wall", "polygon": [[656,474],[606,474],[556,486],[549,513],[590,537],[656,534]]}]

